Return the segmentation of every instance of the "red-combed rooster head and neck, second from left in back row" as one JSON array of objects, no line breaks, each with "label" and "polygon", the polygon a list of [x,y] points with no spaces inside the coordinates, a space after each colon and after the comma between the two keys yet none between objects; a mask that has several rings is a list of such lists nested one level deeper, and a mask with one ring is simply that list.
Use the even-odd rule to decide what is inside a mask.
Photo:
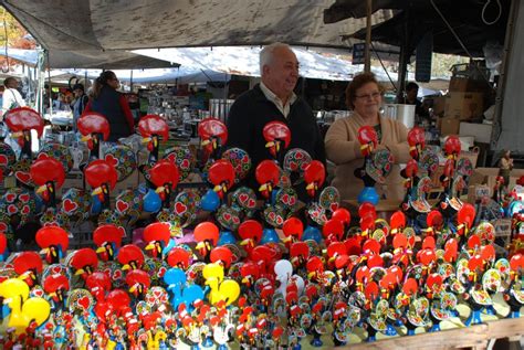
[{"label": "red-combed rooster head and neck, second from left in back row", "polygon": [[83,114],[76,123],[82,141],[87,142],[90,160],[102,159],[101,142],[109,138],[109,121],[99,113],[88,112]]}]

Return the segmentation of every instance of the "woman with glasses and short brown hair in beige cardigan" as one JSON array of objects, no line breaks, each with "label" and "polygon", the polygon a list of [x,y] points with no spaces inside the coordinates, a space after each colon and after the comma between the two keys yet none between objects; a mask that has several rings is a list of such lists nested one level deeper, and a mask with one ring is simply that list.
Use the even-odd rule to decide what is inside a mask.
[{"label": "woman with glasses and short brown hair in beige cardigan", "polygon": [[353,113],[349,117],[336,120],[327,130],[325,138],[327,159],[336,165],[332,182],[340,192],[342,199],[356,199],[364,184],[354,174],[363,166],[358,129],[371,126],[379,138],[378,149],[388,148],[395,166],[386,178],[386,184],[377,184],[377,192],[391,200],[404,197],[402,178],[398,163],[409,160],[407,142],[408,130],[401,123],[384,118],[379,114],[382,103],[382,87],[373,73],[363,73],[354,77],[346,88],[346,105]]}]

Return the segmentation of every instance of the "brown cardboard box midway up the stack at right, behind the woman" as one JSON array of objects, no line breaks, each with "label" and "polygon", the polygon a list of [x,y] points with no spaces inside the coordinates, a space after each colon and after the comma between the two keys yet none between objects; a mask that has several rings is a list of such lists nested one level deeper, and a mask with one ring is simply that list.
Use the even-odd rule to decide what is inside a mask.
[{"label": "brown cardboard box midway up the stack at right, behind the woman", "polygon": [[449,93],[446,96],[446,117],[461,120],[480,117],[484,113],[484,95],[482,93]]}]

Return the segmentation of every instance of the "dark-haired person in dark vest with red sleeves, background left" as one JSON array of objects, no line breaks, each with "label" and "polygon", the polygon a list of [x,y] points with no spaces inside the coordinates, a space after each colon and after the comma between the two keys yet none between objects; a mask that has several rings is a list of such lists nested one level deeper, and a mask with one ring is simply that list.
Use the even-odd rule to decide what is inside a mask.
[{"label": "dark-haired person in dark vest with red sleeves, background left", "polygon": [[119,138],[128,137],[135,131],[135,121],[129,105],[124,95],[116,89],[120,86],[112,71],[102,72],[90,91],[90,103],[85,112],[102,114],[109,121],[111,134],[108,141],[116,142]]}]

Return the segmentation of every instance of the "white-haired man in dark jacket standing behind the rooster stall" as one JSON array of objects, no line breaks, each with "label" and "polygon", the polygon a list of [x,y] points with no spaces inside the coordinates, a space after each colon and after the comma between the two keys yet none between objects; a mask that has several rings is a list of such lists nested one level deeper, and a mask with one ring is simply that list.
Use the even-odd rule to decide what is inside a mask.
[{"label": "white-haired man in dark jacket standing behind the rooster stall", "polygon": [[[325,162],[324,142],[311,107],[293,92],[298,81],[298,61],[291,47],[273,43],[260,52],[261,82],[240,95],[228,118],[228,147],[248,151],[253,170],[272,159],[265,147],[263,127],[272,120],[285,123],[291,130],[291,148],[302,148]],[[250,184],[255,188],[254,176]]]}]

